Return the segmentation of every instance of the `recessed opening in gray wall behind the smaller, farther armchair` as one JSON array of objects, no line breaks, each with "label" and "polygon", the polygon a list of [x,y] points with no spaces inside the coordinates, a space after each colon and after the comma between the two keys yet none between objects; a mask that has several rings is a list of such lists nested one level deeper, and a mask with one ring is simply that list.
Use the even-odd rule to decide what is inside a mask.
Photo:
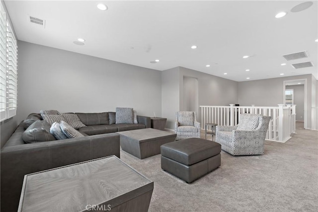
[{"label": "recessed opening in gray wall behind the smaller, farther armchair", "polygon": [[199,86],[198,79],[183,76],[183,111],[195,111],[199,115]]}]

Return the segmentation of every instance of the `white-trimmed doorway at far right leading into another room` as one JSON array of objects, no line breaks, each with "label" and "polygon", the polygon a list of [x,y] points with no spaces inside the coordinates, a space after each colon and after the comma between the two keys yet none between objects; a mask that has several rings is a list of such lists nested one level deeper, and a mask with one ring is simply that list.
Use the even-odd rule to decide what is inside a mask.
[{"label": "white-trimmed doorway at far right leading into another room", "polygon": [[307,79],[284,81],[284,105],[296,105],[296,121],[306,129]]}]

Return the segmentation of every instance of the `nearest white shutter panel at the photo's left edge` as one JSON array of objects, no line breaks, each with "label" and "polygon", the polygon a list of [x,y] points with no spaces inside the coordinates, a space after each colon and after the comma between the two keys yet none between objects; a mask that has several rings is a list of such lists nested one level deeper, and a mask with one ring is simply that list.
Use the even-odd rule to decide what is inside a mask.
[{"label": "nearest white shutter panel at the photo's left edge", "polygon": [[6,14],[0,3],[0,121],[6,119]]}]

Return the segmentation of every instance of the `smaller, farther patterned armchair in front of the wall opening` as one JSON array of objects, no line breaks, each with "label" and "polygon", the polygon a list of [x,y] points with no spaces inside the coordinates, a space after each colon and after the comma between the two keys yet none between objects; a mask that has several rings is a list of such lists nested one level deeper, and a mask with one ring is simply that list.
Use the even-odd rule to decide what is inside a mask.
[{"label": "smaller, farther patterned armchair in front of the wall opening", "polygon": [[175,112],[174,131],[177,133],[176,140],[200,138],[200,126],[201,124],[197,121],[195,112]]}]

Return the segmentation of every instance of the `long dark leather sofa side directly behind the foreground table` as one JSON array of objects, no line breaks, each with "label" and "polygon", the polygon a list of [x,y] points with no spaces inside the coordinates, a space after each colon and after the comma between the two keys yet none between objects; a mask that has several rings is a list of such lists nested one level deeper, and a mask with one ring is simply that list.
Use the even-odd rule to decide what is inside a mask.
[{"label": "long dark leather sofa side directly behind the foreground table", "polygon": [[3,147],[1,211],[17,211],[24,175],[109,155],[120,157],[117,133]]}]

